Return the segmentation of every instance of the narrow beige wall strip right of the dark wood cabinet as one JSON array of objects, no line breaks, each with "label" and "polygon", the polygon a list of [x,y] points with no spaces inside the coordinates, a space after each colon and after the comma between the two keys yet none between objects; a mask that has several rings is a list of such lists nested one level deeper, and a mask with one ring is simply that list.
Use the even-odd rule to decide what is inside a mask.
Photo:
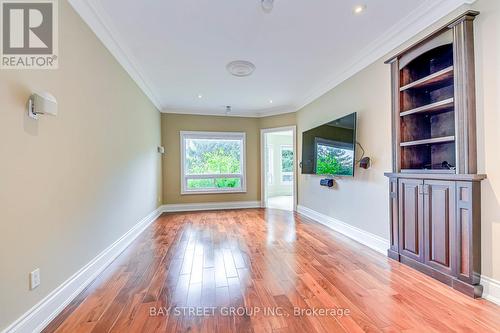
[{"label": "narrow beige wall strip right of the dark wood cabinet", "polygon": [[476,84],[479,172],[481,184],[482,270],[500,280],[500,1],[478,0]]}]

